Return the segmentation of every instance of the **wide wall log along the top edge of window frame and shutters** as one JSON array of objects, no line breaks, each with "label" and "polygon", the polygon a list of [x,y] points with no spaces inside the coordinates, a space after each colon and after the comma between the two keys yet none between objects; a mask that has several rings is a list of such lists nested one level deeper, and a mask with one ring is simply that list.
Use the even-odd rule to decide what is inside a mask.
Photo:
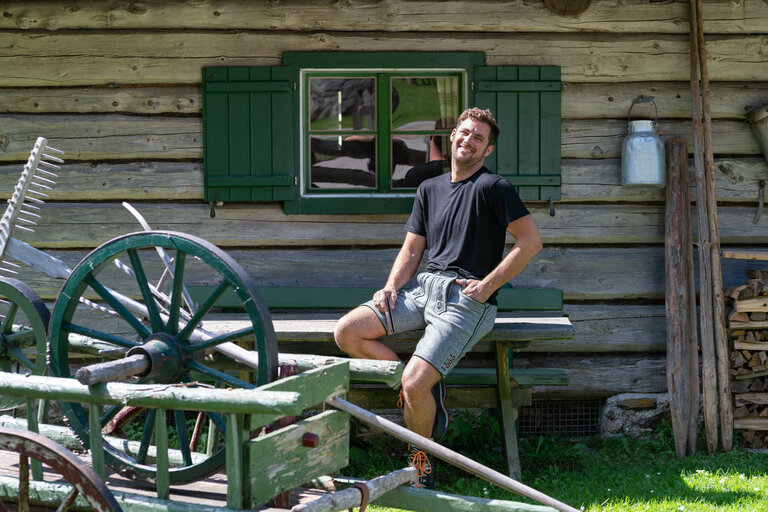
[{"label": "wide wall log along the top edge of window frame and shutters", "polygon": [[[432,16],[430,12],[430,16]],[[494,23],[496,19],[494,19]],[[389,23],[389,21],[388,21]],[[353,32],[0,32],[0,86],[196,84],[205,66],[274,66],[285,51],[478,51],[488,65],[560,66],[564,82],[688,79],[687,34]],[[760,82],[768,47],[742,33],[707,40],[710,79]],[[35,57],[30,57],[35,56]],[[631,64],[630,64],[631,63]]]}]

